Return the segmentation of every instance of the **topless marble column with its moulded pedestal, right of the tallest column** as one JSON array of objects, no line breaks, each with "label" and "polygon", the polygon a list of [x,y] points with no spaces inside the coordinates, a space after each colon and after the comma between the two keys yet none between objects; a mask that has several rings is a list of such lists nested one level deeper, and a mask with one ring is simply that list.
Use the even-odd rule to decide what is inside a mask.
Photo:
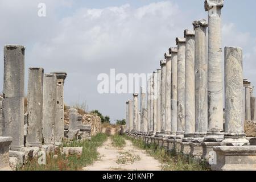
[{"label": "topless marble column with its moulded pedestal, right of the tallest column", "polygon": [[225,139],[222,146],[213,147],[216,171],[253,170],[256,165],[256,146],[246,146],[243,129],[243,71],[242,49],[225,47]]}]

